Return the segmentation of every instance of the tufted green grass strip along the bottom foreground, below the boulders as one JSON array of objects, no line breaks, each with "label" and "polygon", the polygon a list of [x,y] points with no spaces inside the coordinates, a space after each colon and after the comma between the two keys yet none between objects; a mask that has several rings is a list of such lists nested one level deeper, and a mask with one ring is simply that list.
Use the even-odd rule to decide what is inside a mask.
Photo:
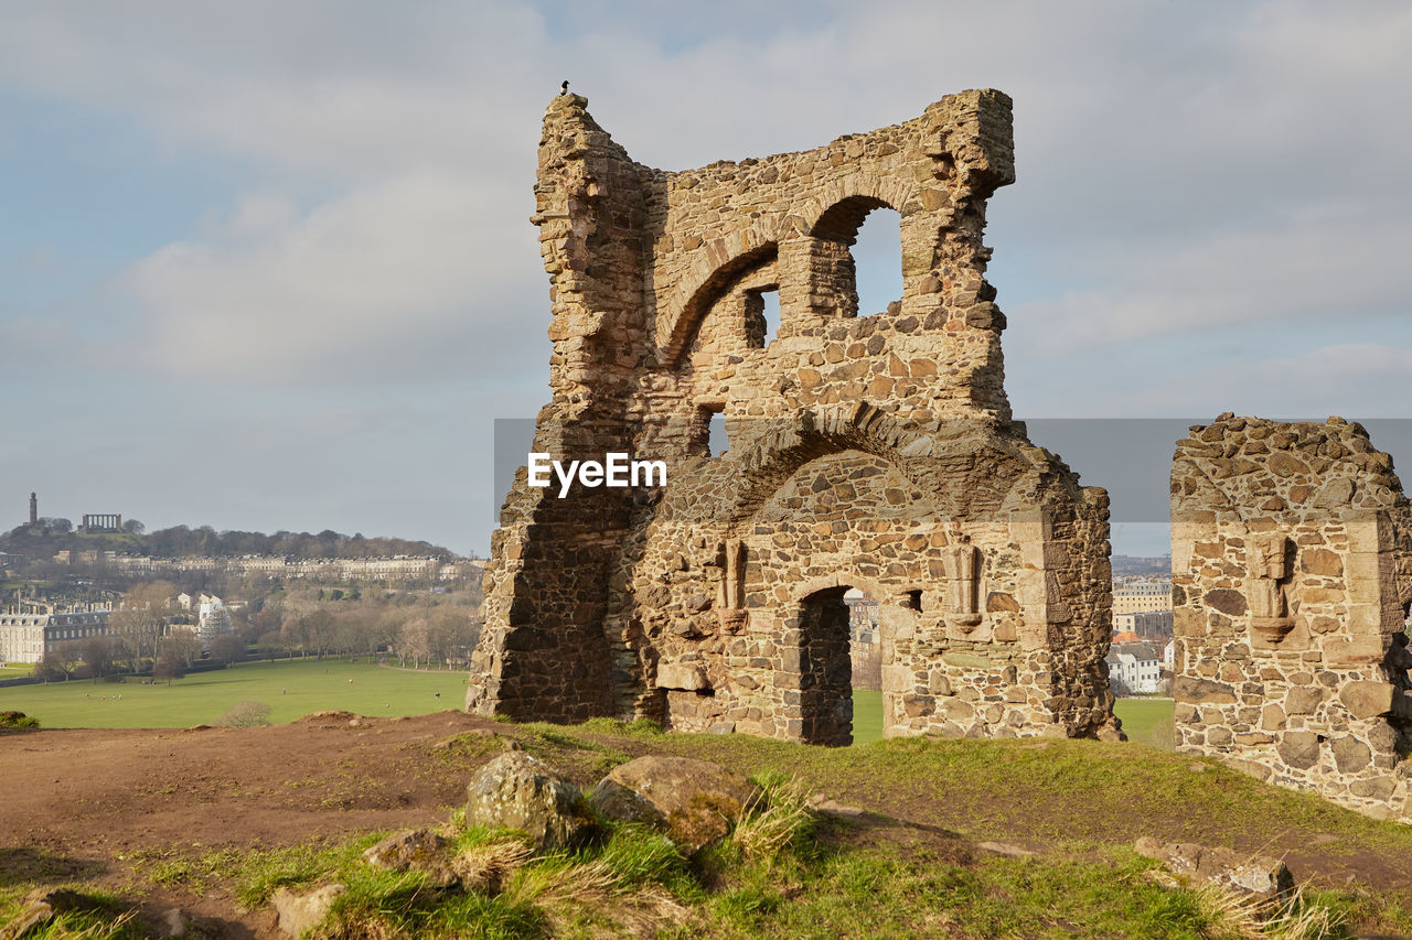
[{"label": "tufted green grass strip along the bottom foreground, below the boulders", "polygon": [[[213,857],[201,868],[229,865],[247,909],[267,905],[280,886],[347,885],[315,936],[1315,940],[1347,936],[1340,924],[1354,913],[1380,913],[1347,892],[1305,892],[1284,920],[1267,924],[1219,892],[1155,878],[1155,862],[1127,848],[1011,858],[971,855],[960,841],[860,838],[860,823],[809,812],[799,781],[757,781],[764,799],[693,858],[624,823],[604,821],[603,836],[576,851],[534,855],[511,833],[456,820],[450,852],[462,888],[369,868],[361,850],[377,836]],[[1289,930],[1295,920],[1303,932]]]}]

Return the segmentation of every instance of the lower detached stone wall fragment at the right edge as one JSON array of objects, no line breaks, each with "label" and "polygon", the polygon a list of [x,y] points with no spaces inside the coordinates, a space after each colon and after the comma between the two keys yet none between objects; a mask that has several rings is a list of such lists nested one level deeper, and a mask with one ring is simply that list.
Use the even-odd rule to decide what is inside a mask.
[{"label": "lower detached stone wall fragment at the right edge", "polygon": [[1412,508],[1363,426],[1192,428],[1172,605],[1179,751],[1412,820]]}]

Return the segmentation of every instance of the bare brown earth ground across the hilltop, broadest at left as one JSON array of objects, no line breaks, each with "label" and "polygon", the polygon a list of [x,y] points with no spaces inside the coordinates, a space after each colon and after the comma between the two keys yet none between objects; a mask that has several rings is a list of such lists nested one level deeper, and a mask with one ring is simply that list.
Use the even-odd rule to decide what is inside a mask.
[{"label": "bare brown earth ground across the hilltop, broadest at left", "polygon": [[[1323,810],[1317,807],[1315,828],[1250,831],[1247,826],[1233,831],[1219,813],[1203,819],[1187,812],[1163,814],[1161,806],[1114,806],[1106,803],[1111,795],[1090,799],[1082,789],[1039,795],[997,781],[991,788],[938,793],[928,781],[890,773],[882,752],[874,755],[871,748],[840,755],[842,769],[834,761],[827,765],[833,769],[823,772],[816,748],[729,737],[597,735],[583,728],[559,735],[544,725],[500,724],[459,711],[361,724],[350,727],[345,714],[265,728],[3,735],[0,886],[86,881],[145,898],[150,913],[182,906],[225,920],[227,936],[275,937],[273,915],[237,910],[229,885],[210,885],[202,896],[154,885],[152,860],[172,854],[196,858],[216,848],[332,843],[442,820],[462,800],[474,768],[500,752],[503,742],[490,737],[465,738],[484,747],[435,745],[481,730],[479,734],[525,741],[528,749],[539,751],[583,785],[596,782],[624,754],[692,754],[747,773],[758,772],[762,764],[792,769],[839,802],[898,820],[860,831],[857,838],[946,841],[964,854],[969,840],[1008,838],[1042,851],[1066,851],[1066,844],[1131,844],[1137,836],[1154,834],[1285,855],[1299,881],[1412,889],[1406,840],[1385,845],[1375,834],[1353,843],[1346,837],[1322,840],[1317,819]],[[1123,747],[1128,745],[1111,745]],[[552,752],[545,754],[545,748]],[[1156,759],[1144,755],[1158,754],[1137,747],[1094,748],[1096,757],[1117,764]],[[1065,752],[1056,748],[1053,754]],[[904,761],[905,755],[888,759]],[[1032,751],[1027,759],[1034,759]],[[1214,771],[1199,772],[1195,762],[1192,771],[1195,781],[1216,776]]]}]

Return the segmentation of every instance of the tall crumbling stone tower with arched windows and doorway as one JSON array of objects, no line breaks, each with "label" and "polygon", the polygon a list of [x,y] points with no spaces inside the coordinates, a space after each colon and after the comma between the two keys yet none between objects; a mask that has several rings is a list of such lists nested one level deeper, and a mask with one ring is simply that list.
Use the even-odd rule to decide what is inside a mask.
[{"label": "tall crumbling stone tower with arched windows and doorway", "polygon": [[[1107,495],[1011,421],[984,278],[1010,99],[686,172],[634,162],[586,106],[556,97],[539,143],[535,450],[661,459],[669,483],[559,498],[521,470],[467,706],[846,744],[857,587],[881,608],[887,734],[1115,737]],[[881,206],[902,296],[860,316],[850,246]]]}]

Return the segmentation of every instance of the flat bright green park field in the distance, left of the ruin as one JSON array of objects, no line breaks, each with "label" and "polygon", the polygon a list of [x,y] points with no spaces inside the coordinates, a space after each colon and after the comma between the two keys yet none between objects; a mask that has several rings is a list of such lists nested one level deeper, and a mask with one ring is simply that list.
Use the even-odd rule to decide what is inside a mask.
[{"label": "flat bright green park field in the distance, left of the ruin", "polygon": [[185,728],[213,724],[230,706],[247,700],[264,701],[271,707],[270,720],[281,723],[325,709],[370,716],[426,714],[459,709],[465,699],[463,672],[281,659],[192,673],[171,686],[75,679],[0,687],[0,711],[24,711],[45,728]]}]

